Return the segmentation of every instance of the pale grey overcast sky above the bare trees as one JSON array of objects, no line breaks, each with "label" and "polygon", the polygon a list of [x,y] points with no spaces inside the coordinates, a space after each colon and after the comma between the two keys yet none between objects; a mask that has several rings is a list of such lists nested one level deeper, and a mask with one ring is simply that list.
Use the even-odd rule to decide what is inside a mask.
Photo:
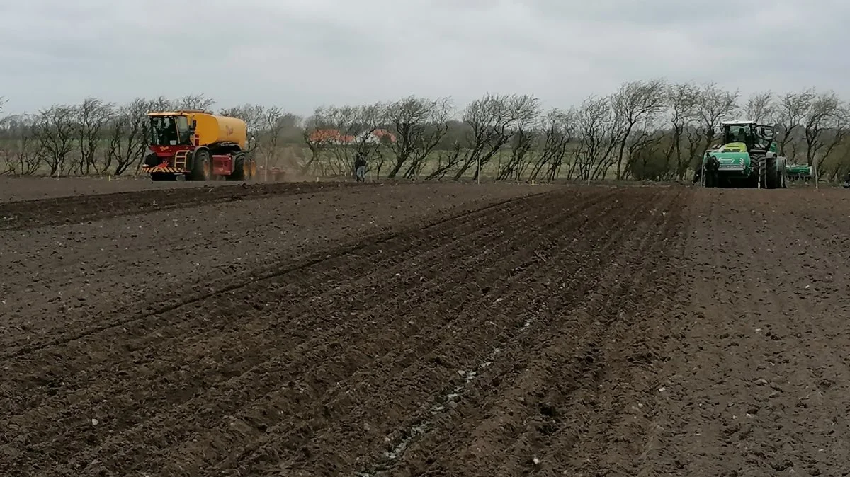
[{"label": "pale grey overcast sky above the bare trees", "polygon": [[0,0],[0,96],[6,113],[187,93],[302,115],[410,94],[569,107],[660,76],[850,98],[848,20],[847,0]]}]

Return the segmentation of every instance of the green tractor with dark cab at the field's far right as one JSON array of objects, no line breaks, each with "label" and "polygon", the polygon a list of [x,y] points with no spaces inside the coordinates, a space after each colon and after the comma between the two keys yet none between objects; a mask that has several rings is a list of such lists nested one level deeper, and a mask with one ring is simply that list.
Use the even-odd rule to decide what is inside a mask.
[{"label": "green tractor with dark cab at the field's far right", "polygon": [[774,126],[724,121],[722,146],[702,158],[694,182],[705,187],[785,188],[785,158],[776,154]]}]

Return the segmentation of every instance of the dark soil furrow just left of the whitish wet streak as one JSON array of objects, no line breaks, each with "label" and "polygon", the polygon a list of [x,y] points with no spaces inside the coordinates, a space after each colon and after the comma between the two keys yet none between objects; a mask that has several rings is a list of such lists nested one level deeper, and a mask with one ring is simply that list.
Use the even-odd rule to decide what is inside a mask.
[{"label": "dark soil furrow just left of the whitish wet streak", "polygon": [[[583,214],[591,214],[595,210],[602,210],[606,202],[607,201],[601,204],[587,204],[580,202],[578,205],[575,205],[575,210],[578,212],[575,215],[581,216]],[[488,300],[486,307],[495,307],[500,309],[500,311],[494,313],[492,320],[480,321],[477,319],[478,312],[480,311],[478,304],[480,302],[477,301],[474,296],[478,294],[472,295],[475,293],[475,289],[462,289],[460,290],[462,293],[471,292],[469,295],[472,295],[473,298],[471,300],[463,300],[456,308],[448,308],[444,303],[438,303],[434,304],[434,306],[430,307],[430,309],[426,308],[424,310],[417,311],[416,315],[410,316],[411,319],[417,322],[431,316],[456,317],[453,318],[452,322],[439,329],[433,330],[433,332],[428,334],[428,337],[414,337],[414,340],[418,341],[419,345],[417,345],[417,347],[413,350],[409,350],[400,356],[388,356],[388,358],[394,358],[397,356],[398,359],[388,361],[384,366],[377,364],[377,369],[364,369],[361,372],[361,379],[365,379],[366,375],[374,376],[377,373],[376,377],[379,378],[377,380],[370,379],[368,381],[370,383],[392,384],[396,381],[396,379],[400,379],[403,383],[411,384],[413,389],[396,392],[397,390],[395,389],[390,391],[376,389],[374,385],[365,387],[357,386],[354,389],[347,386],[339,386],[335,390],[335,393],[324,396],[320,403],[317,403],[320,404],[322,408],[329,409],[330,412],[320,418],[318,416],[316,418],[310,418],[310,421],[316,424],[311,425],[311,432],[309,435],[292,435],[289,425],[279,425],[279,429],[277,429],[277,431],[280,432],[282,430],[286,433],[286,441],[300,437],[303,444],[307,444],[309,438],[312,438],[312,436],[316,434],[316,431],[320,430],[316,429],[317,425],[331,425],[331,429],[322,430],[322,434],[317,435],[317,438],[320,441],[326,440],[328,435],[340,438],[339,435],[336,435],[339,432],[339,429],[348,428],[349,430],[354,431],[355,436],[351,436],[351,439],[348,439],[348,437],[342,437],[340,438],[342,442],[348,443],[349,441],[356,440],[361,446],[363,446],[366,442],[366,435],[370,436],[371,441],[375,441],[376,443],[382,442],[382,439],[385,435],[387,435],[388,430],[396,427],[397,424],[394,424],[394,420],[405,418],[405,413],[403,412],[404,407],[418,407],[419,402],[428,401],[428,396],[439,394],[441,392],[441,388],[445,387],[446,373],[448,373],[449,376],[457,376],[456,370],[458,368],[456,367],[461,367],[464,360],[474,359],[474,355],[467,356],[463,353],[462,351],[464,349],[475,344],[487,346],[492,334],[501,333],[502,328],[505,326],[504,323],[502,323],[503,320],[508,320],[510,322],[517,319],[516,315],[514,315],[512,311],[522,310],[522,307],[528,303],[528,297],[525,295],[527,295],[530,290],[525,289],[524,287],[517,288],[515,284],[527,281],[534,282],[534,280],[536,280],[536,272],[539,270],[539,268],[534,267],[534,265],[541,260],[541,252],[545,253],[547,247],[551,246],[550,244],[552,243],[553,238],[557,238],[565,233],[575,233],[576,229],[581,229],[582,227],[581,219],[578,219],[575,222],[564,221],[564,216],[570,216],[571,212],[564,212],[564,216],[560,216],[557,213],[552,214],[551,212],[548,212],[548,210],[546,212],[550,217],[548,219],[549,222],[557,223],[557,228],[553,227],[552,229],[547,229],[544,236],[534,240],[532,240],[529,235],[529,240],[524,241],[523,247],[521,249],[517,248],[514,250],[512,255],[499,255],[503,256],[501,261],[504,261],[505,263],[500,263],[500,267],[497,267],[496,269],[496,274],[493,274],[493,270],[484,268],[485,275],[481,275],[482,272],[479,271],[473,276],[474,278],[472,279],[476,283],[488,283],[487,296],[489,296],[490,299]],[[585,223],[588,223],[587,218],[585,218],[584,221]],[[516,224],[514,227],[519,226],[520,224]],[[519,229],[521,230],[523,228],[519,227]],[[547,244],[547,242],[549,244]],[[464,267],[457,267],[456,270],[461,273],[465,272]],[[490,277],[486,274],[489,274]],[[494,281],[494,278],[499,279]],[[469,278],[467,278],[467,280],[468,279]],[[508,328],[511,328],[511,326],[508,325]],[[470,340],[469,336],[475,336],[476,339]],[[422,340],[424,340],[424,342],[422,342]],[[451,345],[446,345],[447,343],[451,343]],[[461,346],[462,349],[459,350],[461,352],[456,353],[452,350],[452,348],[456,348],[458,346]],[[425,370],[423,370],[422,367],[422,360],[425,361]],[[417,370],[419,374],[412,373],[411,375],[411,370]],[[405,374],[408,375],[406,379],[404,377]],[[357,380],[354,379],[347,379],[346,381],[349,385],[357,383]],[[395,387],[397,387],[397,385]],[[388,396],[399,397],[388,400]],[[371,402],[372,399],[380,402]],[[394,408],[382,411],[382,406],[384,405],[390,405]],[[369,409],[372,415],[363,416],[362,413],[364,409]],[[358,411],[359,414],[348,416],[348,414],[354,410]],[[317,413],[318,411],[319,410],[317,410]],[[308,413],[304,416],[304,418],[309,418],[309,416],[310,415]],[[383,419],[390,418],[391,416],[393,418],[388,422],[382,422],[381,420],[378,420],[378,416],[382,416]],[[371,422],[376,424],[371,424],[369,426],[370,429],[363,429],[362,427],[358,428],[356,425],[352,428],[347,424],[351,421],[354,421],[354,423]],[[398,424],[401,424],[400,421]],[[280,439],[278,435],[266,434],[263,435],[262,441],[268,443],[280,441]],[[312,455],[313,452],[311,449],[313,449],[316,445],[317,444],[315,442],[309,442],[309,446],[306,448],[305,452]],[[340,447],[340,444],[334,444],[332,446]],[[241,463],[241,471],[258,471],[258,469],[253,469],[252,466],[268,465],[266,461],[274,464],[275,458],[269,457],[269,452],[271,452],[271,456],[274,456],[277,453],[274,449],[269,448],[267,444],[263,444],[263,447],[259,449],[259,452],[255,452],[255,455],[249,457],[246,460],[246,463]],[[355,453],[356,451],[352,449],[346,453],[349,452]],[[338,471],[338,469],[335,471]]]}]

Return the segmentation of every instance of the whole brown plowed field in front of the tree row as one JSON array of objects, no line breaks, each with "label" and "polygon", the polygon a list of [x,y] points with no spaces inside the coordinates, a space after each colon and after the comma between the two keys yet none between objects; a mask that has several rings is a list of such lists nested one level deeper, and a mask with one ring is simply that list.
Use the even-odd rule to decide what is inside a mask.
[{"label": "whole brown plowed field in front of the tree row", "polygon": [[3,475],[841,475],[842,191],[0,205]]}]

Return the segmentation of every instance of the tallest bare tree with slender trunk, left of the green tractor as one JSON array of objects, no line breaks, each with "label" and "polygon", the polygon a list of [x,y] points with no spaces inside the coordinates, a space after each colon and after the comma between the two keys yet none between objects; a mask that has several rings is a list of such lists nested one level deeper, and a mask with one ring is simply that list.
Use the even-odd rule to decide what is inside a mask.
[{"label": "tallest bare tree with slender trunk, left of the green tractor", "polygon": [[663,80],[630,81],[611,98],[615,115],[621,118],[624,129],[617,154],[617,180],[622,179],[622,166],[629,137],[635,126],[659,115],[666,107],[666,83]]}]

